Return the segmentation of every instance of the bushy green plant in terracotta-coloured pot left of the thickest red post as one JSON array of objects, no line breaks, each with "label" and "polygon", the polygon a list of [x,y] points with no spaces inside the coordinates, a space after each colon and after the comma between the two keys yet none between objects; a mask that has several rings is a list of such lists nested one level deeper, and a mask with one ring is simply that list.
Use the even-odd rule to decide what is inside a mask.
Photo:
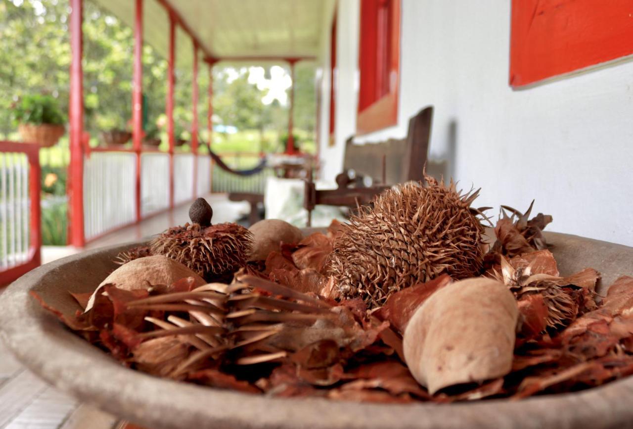
[{"label": "bushy green plant in terracotta-coloured pot left of the thickest red post", "polygon": [[13,108],[22,141],[49,147],[63,136],[65,118],[57,99],[48,95],[24,96]]}]

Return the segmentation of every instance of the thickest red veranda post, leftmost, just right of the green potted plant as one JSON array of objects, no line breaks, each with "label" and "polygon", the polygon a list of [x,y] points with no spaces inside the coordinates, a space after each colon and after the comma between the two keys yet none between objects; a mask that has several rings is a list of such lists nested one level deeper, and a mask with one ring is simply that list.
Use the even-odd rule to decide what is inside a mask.
[{"label": "thickest red veranda post, leftmost, just right of the green potted plant", "polygon": [[84,75],[81,65],[83,51],[83,2],[70,0],[70,103],[68,118],[70,120],[70,176],[68,197],[70,210],[70,240],[75,247],[85,245],[84,236]]}]

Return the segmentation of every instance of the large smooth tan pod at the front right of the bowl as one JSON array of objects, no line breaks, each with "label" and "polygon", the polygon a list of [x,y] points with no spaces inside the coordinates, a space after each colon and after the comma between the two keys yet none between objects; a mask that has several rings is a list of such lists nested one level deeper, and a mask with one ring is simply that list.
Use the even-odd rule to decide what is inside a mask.
[{"label": "large smooth tan pod at the front right of the bowl", "polygon": [[420,305],[403,336],[404,358],[429,393],[510,373],[517,301],[496,280],[444,286]]}]

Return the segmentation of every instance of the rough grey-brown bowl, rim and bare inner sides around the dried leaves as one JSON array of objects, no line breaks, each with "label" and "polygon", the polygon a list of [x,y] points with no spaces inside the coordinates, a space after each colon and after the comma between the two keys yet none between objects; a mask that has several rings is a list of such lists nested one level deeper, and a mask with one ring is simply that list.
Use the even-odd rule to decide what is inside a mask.
[{"label": "rough grey-brown bowl, rim and bare inner sides around the dried leaves", "polygon": [[[599,293],[633,274],[633,248],[548,233],[561,274],[593,267]],[[27,368],[56,388],[147,428],[620,428],[633,421],[633,378],[583,392],[526,400],[439,404],[357,404],[326,399],[275,399],[163,380],[127,369],[67,330],[28,291],[62,309],[67,293],[92,291],[125,248],[73,255],[34,269],[0,295],[4,342]]]}]

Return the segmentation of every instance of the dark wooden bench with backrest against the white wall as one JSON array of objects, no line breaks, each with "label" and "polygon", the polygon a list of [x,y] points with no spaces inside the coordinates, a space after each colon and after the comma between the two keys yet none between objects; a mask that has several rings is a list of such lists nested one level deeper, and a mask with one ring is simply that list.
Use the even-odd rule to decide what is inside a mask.
[{"label": "dark wooden bench with backrest against the white wall", "polygon": [[[306,182],[304,208],[311,211],[318,204],[355,208],[369,203],[390,186],[406,181],[421,181],[429,153],[433,107],[423,108],[409,120],[404,139],[380,143],[345,144],[343,171],[337,175],[337,189],[317,190],[312,177]],[[353,173],[353,174],[352,174]],[[368,184],[365,179],[370,178]]]}]

